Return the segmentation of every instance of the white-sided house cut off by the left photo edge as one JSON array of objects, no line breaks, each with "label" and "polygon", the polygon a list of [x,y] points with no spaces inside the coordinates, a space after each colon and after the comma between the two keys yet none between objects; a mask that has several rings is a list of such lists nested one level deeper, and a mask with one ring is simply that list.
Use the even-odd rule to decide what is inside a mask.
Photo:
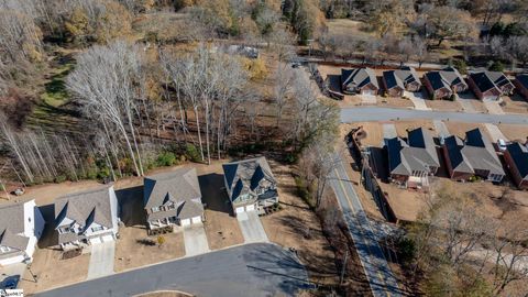
[{"label": "white-sided house cut off by the left photo edge", "polygon": [[0,207],[0,266],[29,263],[44,230],[35,200]]}]

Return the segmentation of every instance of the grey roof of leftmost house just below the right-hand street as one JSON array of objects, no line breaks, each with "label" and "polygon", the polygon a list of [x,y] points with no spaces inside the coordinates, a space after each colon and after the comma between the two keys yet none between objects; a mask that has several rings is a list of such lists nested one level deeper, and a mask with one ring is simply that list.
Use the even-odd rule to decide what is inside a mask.
[{"label": "grey roof of leftmost house just below the right-hand street", "polygon": [[399,138],[388,140],[387,151],[391,174],[411,175],[440,167],[435,141],[422,128],[409,131],[407,143]]}]

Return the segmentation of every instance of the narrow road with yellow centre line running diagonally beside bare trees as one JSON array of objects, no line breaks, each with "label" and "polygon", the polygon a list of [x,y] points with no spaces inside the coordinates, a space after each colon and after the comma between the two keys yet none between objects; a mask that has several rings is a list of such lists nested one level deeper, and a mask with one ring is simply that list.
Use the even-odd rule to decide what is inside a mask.
[{"label": "narrow road with yellow centre line running diagonally beside bare trees", "polygon": [[370,221],[352,187],[344,164],[346,163],[340,157],[330,183],[343,210],[344,219],[354,240],[372,293],[374,297],[402,296],[396,277],[373,234]]}]

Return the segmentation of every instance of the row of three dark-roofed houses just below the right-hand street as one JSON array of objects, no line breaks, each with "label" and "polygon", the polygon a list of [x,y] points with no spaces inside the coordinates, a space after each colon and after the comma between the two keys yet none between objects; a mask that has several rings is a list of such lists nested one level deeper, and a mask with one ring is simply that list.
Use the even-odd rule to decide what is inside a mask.
[{"label": "row of three dark-roofed houses just below the right-hand street", "polygon": [[527,145],[518,142],[506,145],[502,152],[503,166],[492,142],[480,129],[465,132],[464,139],[442,138],[437,146],[429,131],[418,128],[407,132],[407,140],[388,139],[385,145],[391,180],[406,187],[427,186],[427,177],[437,175],[441,167],[441,155],[451,179],[466,182],[479,177],[499,183],[506,176],[506,167],[516,186],[528,189]]}]

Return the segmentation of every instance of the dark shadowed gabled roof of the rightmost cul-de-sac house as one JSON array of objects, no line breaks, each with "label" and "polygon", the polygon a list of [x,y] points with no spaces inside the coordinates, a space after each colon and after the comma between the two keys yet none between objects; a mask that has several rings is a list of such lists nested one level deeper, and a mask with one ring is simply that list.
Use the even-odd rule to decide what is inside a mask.
[{"label": "dark shadowed gabled roof of the rightmost cul-de-sac house", "polygon": [[265,157],[227,163],[222,167],[226,184],[231,193],[231,201],[234,201],[241,195],[253,193],[263,179],[275,183]]}]

